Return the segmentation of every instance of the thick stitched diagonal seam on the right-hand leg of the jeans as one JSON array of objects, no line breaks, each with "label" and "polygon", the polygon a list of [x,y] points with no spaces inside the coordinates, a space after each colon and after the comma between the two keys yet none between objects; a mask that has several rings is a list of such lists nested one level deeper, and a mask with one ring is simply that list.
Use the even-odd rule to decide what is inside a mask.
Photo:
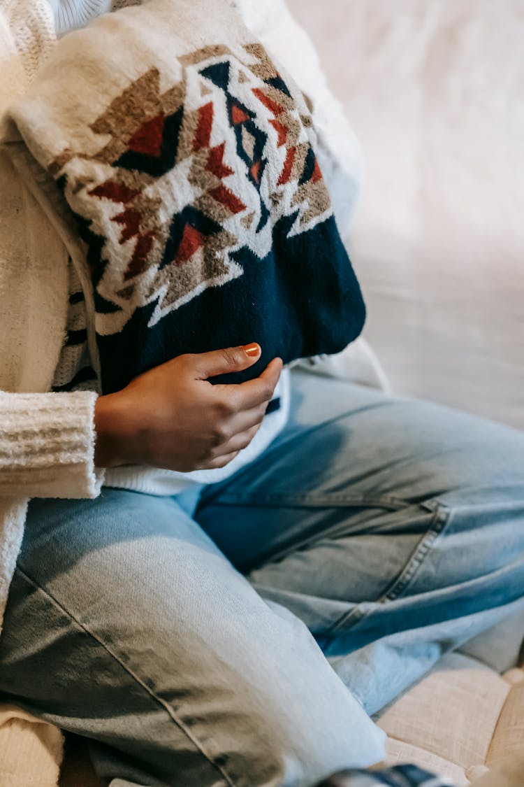
[{"label": "thick stitched diagonal seam on the right-hand leg of the jeans", "polygon": [[[425,506],[421,506],[421,508],[425,508]],[[420,570],[425,557],[427,556],[431,547],[434,545],[434,542],[442,534],[446,524],[449,522],[450,515],[450,508],[447,508],[443,504],[436,504],[431,516],[430,526],[428,527],[426,534],[419,541],[419,544],[412,552],[412,555],[406,562],[405,567],[401,571],[401,574],[394,579],[390,587],[378,600],[373,602],[372,605],[366,604],[365,607],[359,606],[355,609],[351,609],[349,612],[345,612],[339,619],[335,620],[335,623],[329,627],[325,634],[327,636],[336,634],[339,628],[346,623],[351,622],[353,625],[356,623],[361,623],[362,620],[368,618],[369,615],[372,615],[372,613],[376,611],[377,607],[383,606],[390,601],[398,599],[401,593],[405,592],[410,582],[412,582],[412,580],[416,577],[416,574]]]}]

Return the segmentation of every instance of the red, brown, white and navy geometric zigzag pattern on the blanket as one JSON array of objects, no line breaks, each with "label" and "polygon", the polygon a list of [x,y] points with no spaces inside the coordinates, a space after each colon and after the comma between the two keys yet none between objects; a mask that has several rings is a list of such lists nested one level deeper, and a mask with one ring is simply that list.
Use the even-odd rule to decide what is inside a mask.
[{"label": "red, brown, white and navy geometric zigzag pattern on the blanket", "polygon": [[298,235],[332,214],[310,111],[262,45],[178,60],[180,82],[161,89],[150,68],[97,117],[97,153],[64,150],[51,167],[89,247],[102,335],[240,277],[239,249],[262,260],[283,216]]}]

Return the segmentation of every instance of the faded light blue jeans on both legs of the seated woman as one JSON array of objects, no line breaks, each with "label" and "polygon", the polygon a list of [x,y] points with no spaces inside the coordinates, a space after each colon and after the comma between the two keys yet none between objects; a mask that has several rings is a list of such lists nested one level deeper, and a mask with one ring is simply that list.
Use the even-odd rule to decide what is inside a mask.
[{"label": "faded light blue jeans on both legs of the seated woman", "polygon": [[288,427],[225,482],[31,502],[1,698],[90,737],[112,787],[366,767],[367,714],[524,607],[523,434],[291,376]]}]

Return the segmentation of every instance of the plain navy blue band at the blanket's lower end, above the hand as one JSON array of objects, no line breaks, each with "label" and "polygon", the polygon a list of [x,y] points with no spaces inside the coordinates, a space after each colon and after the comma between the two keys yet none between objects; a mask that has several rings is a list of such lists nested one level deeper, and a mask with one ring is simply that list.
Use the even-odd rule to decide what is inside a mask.
[{"label": "plain navy blue band at the blanket's lower end, above the hand", "polygon": [[183,353],[258,342],[262,357],[254,366],[213,380],[243,382],[274,357],[288,363],[337,353],[353,341],[365,305],[334,218],[289,238],[292,223],[288,217],[275,225],[266,259],[245,248],[233,253],[244,268],[239,278],[204,290],[155,326],[148,327],[150,304],[137,309],[120,333],[99,335],[103,393]]}]

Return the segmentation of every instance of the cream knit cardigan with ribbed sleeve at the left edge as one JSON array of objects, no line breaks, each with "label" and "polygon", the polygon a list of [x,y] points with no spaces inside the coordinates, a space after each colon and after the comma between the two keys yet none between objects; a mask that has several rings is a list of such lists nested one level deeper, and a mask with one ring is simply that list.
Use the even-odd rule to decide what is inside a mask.
[{"label": "cream knit cardigan with ribbed sleeve at the left edge", "polygon": [[[46,2],[0,0],[0,117],[54,40]],[[103,479],[93,463],[96,394],[47,393],[64,342],[67,274],[62,242],[0,147],[0,622],[28,498],[96,497]]]}]

